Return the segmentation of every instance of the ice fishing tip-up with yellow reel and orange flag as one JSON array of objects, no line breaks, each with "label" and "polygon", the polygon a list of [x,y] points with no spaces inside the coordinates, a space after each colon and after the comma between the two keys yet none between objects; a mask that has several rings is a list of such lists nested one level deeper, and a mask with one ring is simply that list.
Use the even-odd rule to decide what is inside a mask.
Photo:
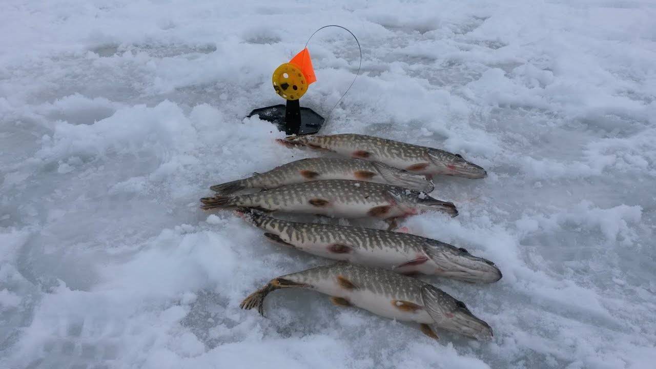
[{"label": "ice fishing tip-up with yellow reel and orange flag", "polygon": [[356,39],[360,52],[360,64],[358,66],[356,77],[348,86],[344,95],[337,100],[335,106],[333,106],[328,113],[328,119],[330,119],[330,114],[335,107],[337,107],[337,104],[339,104],[342,98],[344,98],[346,93],[348,93],[348,90],[351,89],[353,83],[355,83],[362,66],[362,49],[358,38],[346,28],[336,25],[323,26],[316,30],[310,35],[310,38],[308,38],[308,41],[305,43],[304,49],[300,51],[300,53],[296,54],[296,56],[289,60],[288,63],[280,64],[280,66],[274,70],[274,75],[272,76],[274,90],[277,95],[287,100],[287,104],[256,108],[248,115],[249,117],[257,115],[262,120],[270,121],[276,124],[280,131],[285,131],[287,135],[312,135],[321,129],[323,123],[327,119],[324,119],[310,108],[301,107],[299,99],[308,91],[310,85],[317,80],[314,75],[314,68],[312,68],[308,43],[310,43],[310,39],[312,39],[312,36],[314,36],[315,33],[328,27],[342,28],[350,33]]}]

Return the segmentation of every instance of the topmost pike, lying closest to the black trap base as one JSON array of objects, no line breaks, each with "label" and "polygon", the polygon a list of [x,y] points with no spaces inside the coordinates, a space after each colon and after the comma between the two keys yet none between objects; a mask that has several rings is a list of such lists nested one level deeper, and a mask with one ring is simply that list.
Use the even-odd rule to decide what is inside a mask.
[{"label": "topmost pike, lying closest to the black trap base", "polygon": [[336,152],[350,158],[375,160],[422,175],[487,177],[485,169],[464,160],[459,154],[379,137],[345,133],[331,136],[291,136],[277,141],[290,147],[306,146],[315,150]]}]

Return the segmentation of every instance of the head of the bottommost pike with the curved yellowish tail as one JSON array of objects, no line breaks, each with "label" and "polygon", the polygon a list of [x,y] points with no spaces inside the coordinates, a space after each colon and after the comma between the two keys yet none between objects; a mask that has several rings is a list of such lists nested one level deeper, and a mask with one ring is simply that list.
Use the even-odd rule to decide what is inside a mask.
[{"label": "head of the bottommost pike with the curved yellowish tail", "polygon": [[421,298],[424,309],[434,320],[434,326],[476,339],[491,339],[494,336],[487,322],[474,315],[462,301],[439,288],[424,285]]}]

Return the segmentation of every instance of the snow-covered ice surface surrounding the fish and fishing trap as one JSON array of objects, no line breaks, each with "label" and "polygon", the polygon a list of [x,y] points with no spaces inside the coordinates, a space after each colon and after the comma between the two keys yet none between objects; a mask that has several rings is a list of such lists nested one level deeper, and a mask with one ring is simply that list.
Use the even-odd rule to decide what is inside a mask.
[{"label": "snow-covered ice surface surrounding the fish and fishing trap", "polygon": [[[1,368],[653,368],[656,6],[581,1],[18,1],[0,5]],[[444,148],[460,215],[405,221],[504,278],[428,278],[490,342],[272,293],[327,261],[270,244],[210,185],[312,156],[243,119],[319,26],[363,47],[324,133]],[[335,104],[358,66],[310,44]],[[379,226],[381,226],[379,224]],[[382,225],[384,227],[384,225]]]}]

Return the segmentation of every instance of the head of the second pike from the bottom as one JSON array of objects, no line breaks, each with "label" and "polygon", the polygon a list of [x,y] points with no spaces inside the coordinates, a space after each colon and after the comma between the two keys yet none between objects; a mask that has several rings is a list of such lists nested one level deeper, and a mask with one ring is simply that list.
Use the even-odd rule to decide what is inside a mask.
[{"label": "head of the second pike from the bottom", "polygon": [[440,270],[440,276],[472,283],[492,283],[501,279],[501,271],[495,263],[476,257],[464,248],[438,243],[427,243],[424,250]]}]

